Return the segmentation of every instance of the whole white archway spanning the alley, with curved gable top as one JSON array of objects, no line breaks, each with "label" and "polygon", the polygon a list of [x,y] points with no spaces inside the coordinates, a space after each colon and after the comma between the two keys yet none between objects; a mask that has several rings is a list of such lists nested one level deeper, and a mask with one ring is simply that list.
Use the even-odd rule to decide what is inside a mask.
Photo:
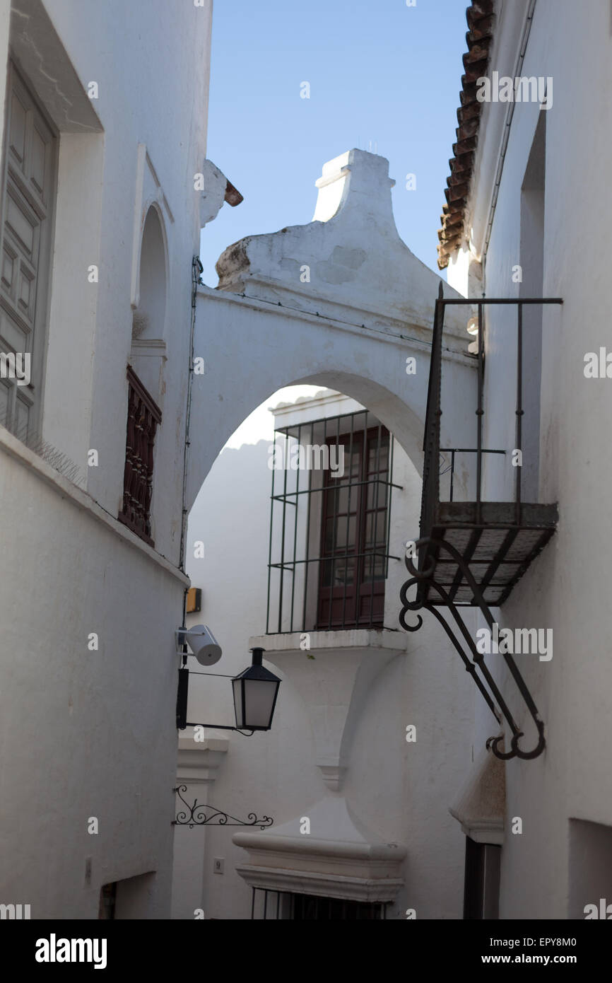
[{"label": "whole white archway spanning the alley, with curved gable top", "polygon": [[[323,167],[313,220],[230,246],[219,286],[200,287],[187,507],[223,447],[277,389],[315,383],[367,406],[421,467],[431,325],[439,284],[393,219],[388,161],[350,150]],[[445,386],[474,391],[465,309],[449,309]],[[469,445],[473,420],[454,418]]]}]

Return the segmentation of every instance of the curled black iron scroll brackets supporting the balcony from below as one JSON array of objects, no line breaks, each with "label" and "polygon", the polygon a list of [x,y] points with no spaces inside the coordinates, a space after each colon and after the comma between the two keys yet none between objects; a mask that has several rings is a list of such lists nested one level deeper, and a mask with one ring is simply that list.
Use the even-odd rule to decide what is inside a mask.
[{"label": "curled black iron scroll brackets supporting the balcony from below", "polygon": [[[488,605],[484,601],[482,592],[480,591],[478,584],[473,578],[473,573],[470,570],[468,564],[465,562],[464,557],[461,555],[461,553],[457,549],[455,549],[455,547],[453,547],[452,544],[447,543],[445,540],[434,539],[432,537],[425,537],[423,539],[417,540],[417,542],[415,543],[415,547],[416,549],[419,548],[424,549],[427,547],[434,547],[435,549],[445,549],[448,553],[451,554],[455,562],[459,565],[462,575],[465,578],[466,583],[469,585],[473,593],[473,600],[476,606],[479,607],[489,627],[489,630],[492,631],[493,623],[494,623],[493,617],[491,615]],[[501,724],[503,723],[503,719],[505,719],[508,725],[510,726],[510,729],[512,730],[510,751],[507,752],[502,751],[499,748],[499,744],[502,743],[504,740],[503,733],[498,734],[496,737],[489,737],[486,742],[486,747],[493,752],[496,758],[500,758],[502,761],[508,761],[510,758],[522,758],[524,760],[529,760],[530,758],[537,758],[538,755],[542,753],[542,751],[546,746],[546,740],[544,737],[544,722],[542,721],[539,712],[537,710],[537,707],[533,702],[533,699],[531,697],[531,694],[529,693],[529,689],[527,688],[525,680],[521,675],[521,672],[519,671],[519,667],[515,663],[510,653],[501,653],[501,655],[505,659],[506,665],[508,665],[508,668],[510,669],[510,672],[519,688],[519,691],[523,699],[525,700],[525,703],[529,710],[529,714],[531,716],[531,719],[533,720],[533,723],[535,723],[535,727],[537,729],[537,734],[538,734],[538,740],[535,747],[533,747],[529,751],[525,751],[523,750],[523,748],[519,746],[519,741],[521,737],[525,736],[525,733],[523,730],[521,730],[519,725],[514,720],[510,708],[508,707],[506,701],[504,700],[504,697],[500,692],[497,683],[493,679],[487,665],[485,665],[484,655],[481,652],[478,652],[478,650],[476,649],[472,635],[470,634],[468,628],[466,627],[466,624],[461,616],[459,608],[450,599],[449,595],[444,590],[444,588],[440,584],[438,584],[437,581],[435,581],[433,578],[433,574],[435,570],[435,559],[431,557],[429,565],[425,566],[421,570],[417,569],[417,567],[412,561],[412,557],[410,556],[405,557],[405,563],[406,563],[407,570],[411,574],[411,577],[409,580],[406,581],[406,583],[403,585],[400,591],[400,599],[402,601],[402,605],[404,606],[400,611],[400,618],[399,618],[402,627],[406,631],[418,631],[418,629],[422,625],[422,617],[420,616],[420,614],[417,614],[417,624],[411,625],[406,620],[407,613],[409,611],[420,610],[421,608],[430,611],[444,628],[448,638],[452,642],[453,646],[459,653],[464,665],[466,666],[466,670],[471,673],[474,683],[476,684],[478,690],[484,697],[484,700],[489,710],[495,717],[497,723]],[[466,654],[466,651],[464,651],[464,649],[462,648],[459,639],[457,638],[455,633],[451,630],[450,624],[445,620],[442,614],[438,611],[437,607],[434,607],[431,603],[427,602],[426,600],[423,600],[423,598],[426,596],[426,592],[422,590],[421,591],[417,590],[416,600],[415,601],[408,600],[408,592],[411,589],[411,587],[415,585],[421,588],[426,585],[429,589],[434,590],[436,594],[439,595],[444,607],[447,607],[448,610],[451,612],[451,615],[457,627],[459,628],[459,632],[465,643],[466,651],[472,655],[473,661],[470,660],[469,656]],[[480,676],[478,675],[478,670],[482,678],[480,678]],[[488,684],[490,693],[487,691],[483,679]],[[491,694],[493,698],[491,698]],[[497,709],[494,701],[496,701],[497,705],[501,708],[501,713],[500,710]]]}]

